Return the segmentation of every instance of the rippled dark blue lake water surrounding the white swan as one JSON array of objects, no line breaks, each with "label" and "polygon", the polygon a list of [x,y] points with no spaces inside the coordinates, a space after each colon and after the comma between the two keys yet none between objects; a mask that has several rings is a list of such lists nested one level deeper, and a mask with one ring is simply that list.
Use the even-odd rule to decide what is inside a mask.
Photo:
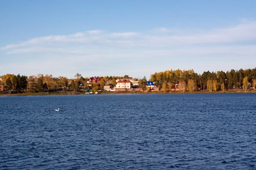
[{"label": "rippled dark blue lake water surrounding the white swan", "polygon": [[172,168],[255,170],[256,94],[0,97],[0,170]]}]

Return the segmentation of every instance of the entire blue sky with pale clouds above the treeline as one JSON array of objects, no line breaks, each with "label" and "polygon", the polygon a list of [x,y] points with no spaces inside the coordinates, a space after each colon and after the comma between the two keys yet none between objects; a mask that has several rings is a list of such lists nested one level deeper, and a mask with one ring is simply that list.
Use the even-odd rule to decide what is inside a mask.
[{"label": "entire blue sky with pale clouds above the treeline", "polygon": [[0,1],[0,75],[256,67],[255,0]]}]

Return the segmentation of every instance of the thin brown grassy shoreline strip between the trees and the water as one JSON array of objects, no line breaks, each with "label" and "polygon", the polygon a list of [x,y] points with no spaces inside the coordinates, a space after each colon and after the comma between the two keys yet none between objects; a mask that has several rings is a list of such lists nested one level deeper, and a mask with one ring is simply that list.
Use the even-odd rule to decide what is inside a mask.
[{"label": "thin brown grassy shoreline strip between the trees and the water", "polygon": [[[180,91],[158,91],[158,92],[102,92],[98,93],[101,95],[105,94],[217,94],[217,93],[256,93],[256,90],[225,90],[225,91],[216,91],[216,92],[209,92],[207,90],[195,91],[195,92],[180,92]],[[92,94],[85,94],[84,92],[52,92],[52,93],[0,93],[0,96],[48,96],[48,95],[92,95]],[[95,95],[95,94],[93,94]]]}]

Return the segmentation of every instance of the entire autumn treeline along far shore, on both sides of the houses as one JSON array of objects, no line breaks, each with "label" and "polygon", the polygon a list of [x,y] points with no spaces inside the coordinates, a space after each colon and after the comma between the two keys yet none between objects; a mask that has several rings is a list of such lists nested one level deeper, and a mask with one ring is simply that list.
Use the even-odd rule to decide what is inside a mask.
[{"label": "entire autumn treeline along far shore, on both sides of the houses", "polygon": [[[103,90],[104,85],[115,86],[117,79],[131,79],[125,76],[104,76],[99,77],[100,81],[89,82],[89,77],[82,77],[77,73],[75,79],[68,79],[63,76],[53,77],[52,75],[24,76],[5,74],[0,76],[4,89],[9,92],[48,92],[56,90],[79,91],[80,89]],[[138,80],[138,78],[134,78]],[[139,79],[139,87],[146,88],[146,78]],[[150,81],[161,91],[179,90],[181,92],[194,92],[198,90],[219,91],[227,89],[251,89],[256,87],[256,68],[239,69],[230,71],[210,72],[204,71],[201,75],[191,70],[167,70],[156,72],[151,75]]]}]

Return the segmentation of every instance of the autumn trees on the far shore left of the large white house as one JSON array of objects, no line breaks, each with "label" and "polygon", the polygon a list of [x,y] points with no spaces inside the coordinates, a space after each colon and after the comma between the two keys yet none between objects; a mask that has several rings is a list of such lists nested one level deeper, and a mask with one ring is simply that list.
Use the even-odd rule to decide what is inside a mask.
[{"label": "autumn trees on the far shore left of the large white house", "polygon": [[[99,76],[98,76],[99,77]],[[2,81],[0,85],[4,85],[4,89],[9,92],[48,92],[48,91],[79,91],[79,89],[92,89],[94,91],[103,90],[104,85],[115,86],[117,79],[129,79],[125,76],[105,76],[99,77],[100,81],[88,83],[89,77],[82,77],[77,73],[75,79],[68,79],[63,76],[53,77],[52,75],[38,74],[32,76],[20,76],[14,74],[5,74],[0,76]]]}]

